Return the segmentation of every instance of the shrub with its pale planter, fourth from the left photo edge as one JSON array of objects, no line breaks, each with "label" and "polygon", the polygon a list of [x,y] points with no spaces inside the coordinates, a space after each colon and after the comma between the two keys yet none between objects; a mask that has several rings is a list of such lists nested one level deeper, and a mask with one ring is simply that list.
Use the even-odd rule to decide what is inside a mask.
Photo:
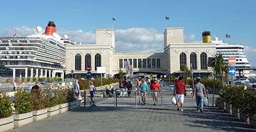
[{"label": "shrub with its pale planter, fourth from the left photo edge", "polygon": [[58,98],[56,96],[56,90],[45,89],[46,106],[47,106],[47,117],[52,117],[59,114]]}]

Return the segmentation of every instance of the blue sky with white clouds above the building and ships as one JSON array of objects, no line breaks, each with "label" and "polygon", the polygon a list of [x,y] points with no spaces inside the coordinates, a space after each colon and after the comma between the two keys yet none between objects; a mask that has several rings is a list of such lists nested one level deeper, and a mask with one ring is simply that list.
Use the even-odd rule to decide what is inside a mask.
[{"label": "blue sky with white clouds above the building and ships", "polygon": [[254,0],[12,0],[1,5],[0,36],[26,36],[54,21],[58,34],[93,44],[95,29],[111,29],[115,17],[116,52],[163,52],[167,22],[167,27],[184,27],[186,43],[202,41],[203,31],[211,31],[212,39],[241,43],[256,66]]}]

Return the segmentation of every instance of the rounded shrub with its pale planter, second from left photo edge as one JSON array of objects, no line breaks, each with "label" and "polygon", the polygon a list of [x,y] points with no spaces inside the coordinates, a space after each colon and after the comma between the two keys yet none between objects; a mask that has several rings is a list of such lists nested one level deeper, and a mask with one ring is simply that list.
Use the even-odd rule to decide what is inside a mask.
[{"label": "rounded shrub with its pale planter, second from left photo edge", "polygon": [[15,115],[14,128],[19,128],[33,122],[31,94],[24,91],[15,93],[14,96]]}]

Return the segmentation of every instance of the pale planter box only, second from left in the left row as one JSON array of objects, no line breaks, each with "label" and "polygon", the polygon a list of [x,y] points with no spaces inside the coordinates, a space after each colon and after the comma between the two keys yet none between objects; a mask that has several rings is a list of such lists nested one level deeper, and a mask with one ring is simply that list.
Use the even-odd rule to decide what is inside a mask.
[{"label": "pale planter box only, second from left in the left row", "polygon": [[13,115],[13,119],[14,128],[19,128],[20,126],[24,126],[33,122],[33,113],[29,112],[26,114]]}]

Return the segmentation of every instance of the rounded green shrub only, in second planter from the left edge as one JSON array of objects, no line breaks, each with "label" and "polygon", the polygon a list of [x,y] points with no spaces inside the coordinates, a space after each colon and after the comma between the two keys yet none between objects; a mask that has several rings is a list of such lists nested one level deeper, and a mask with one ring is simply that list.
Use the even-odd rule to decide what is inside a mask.
[{"label": "rounded green shrub only, in second planter from the left edge", "polygon": [[24,91],[15,93],[14,107],[16,114],[25,114],[32,111],[32,97],[31,94]]}]

